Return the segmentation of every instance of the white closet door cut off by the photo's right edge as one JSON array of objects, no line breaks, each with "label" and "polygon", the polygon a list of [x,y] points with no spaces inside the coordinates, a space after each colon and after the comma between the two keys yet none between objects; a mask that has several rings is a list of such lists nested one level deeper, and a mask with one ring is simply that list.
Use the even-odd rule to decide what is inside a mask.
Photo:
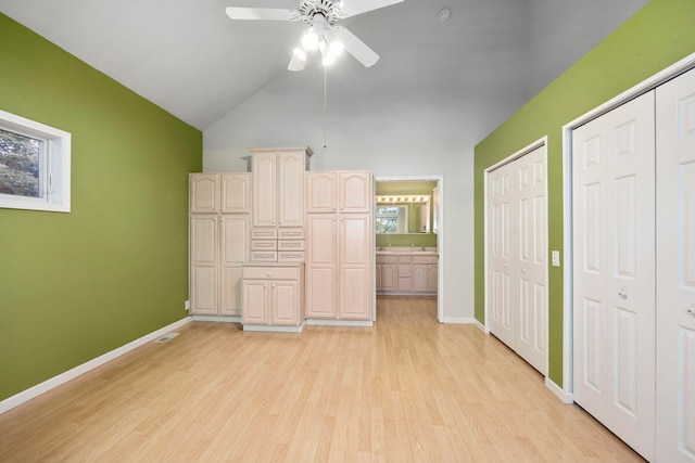
[{"label": "white closet door cut off by the photo's right edge", "polygon": [[657,88],[657,461],[695,461],[695,70]]}]

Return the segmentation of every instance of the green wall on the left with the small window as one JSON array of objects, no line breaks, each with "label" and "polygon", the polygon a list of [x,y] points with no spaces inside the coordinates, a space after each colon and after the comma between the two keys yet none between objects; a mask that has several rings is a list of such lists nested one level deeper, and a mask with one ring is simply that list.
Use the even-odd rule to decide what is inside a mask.
[{"label": "green wall on the left with the small window", "polygon": [[0,108],[72,133],[72,213],[0,209],[0,400],[187,316],[202,133],[0,14]]}]

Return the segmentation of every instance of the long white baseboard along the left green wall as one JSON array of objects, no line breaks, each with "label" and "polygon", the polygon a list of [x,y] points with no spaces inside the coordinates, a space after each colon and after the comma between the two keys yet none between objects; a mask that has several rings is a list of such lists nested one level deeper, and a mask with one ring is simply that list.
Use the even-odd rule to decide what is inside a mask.
[{"label": "long white baseboard along the left green wall", "polygon": [[160,329],[155,332],[152,332],[150,334],[146,334],[144,336],[135,339],[124,346],[121,346],[110,352],[106,352],[102,356],[97,357],[96,359],[92,359],[86,363],[83,363],[80,365],[75,366],[72,370],[68,370],[64,373],[59,374],[58,376],[53,376],[50,380],[46,380],[43,383],[39,383],[36,386],[29,387],[28,389],[25,389],[18,394],[15,394],[12,397],[8,397],[7,399],[0,401],[0,414],[12,410],[13,408],[21,406],[24,402],[27,402],[38,396],[40,396],[43,393],[48,393],[49,390],[67,383],[71,380],[76,378],[79,375],[83,375],[85,373],[87,373],[90,370],[96,369],[97,366],[101,366],[104,363],[114,360],[121,356],[123,356],[124,353],[129,352],[130,350],[134,350],[147,343],[150,343],[167,333],[169,333],[173,330],[176,330],[179,326],[184,326],[185,324],[189,323],[191,321],[190,317],[186,317],[185,319],[181,319],[177,322],[174,322],[169,325],[164,326],[163,329]]}]

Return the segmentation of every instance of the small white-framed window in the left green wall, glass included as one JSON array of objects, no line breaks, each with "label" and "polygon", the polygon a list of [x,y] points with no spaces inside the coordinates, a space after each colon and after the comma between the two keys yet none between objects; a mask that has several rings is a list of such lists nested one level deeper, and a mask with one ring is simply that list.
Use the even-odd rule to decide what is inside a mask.
[{"label": "small white-framed window in the left green wall, glass included", "polygon": [[0,207],[70,213],[71,134],[0,111]]}]

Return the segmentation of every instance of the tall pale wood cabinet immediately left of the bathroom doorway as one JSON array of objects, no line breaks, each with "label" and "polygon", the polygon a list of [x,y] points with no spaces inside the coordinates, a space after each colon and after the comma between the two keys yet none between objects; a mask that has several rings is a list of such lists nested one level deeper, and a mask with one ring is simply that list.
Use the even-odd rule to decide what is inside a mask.
[{"label": "tall pale wood cabinet immediately left of the bathroom doorway", "polygon": [[306,319],[371,321],[372,177],[306,173]]}]

